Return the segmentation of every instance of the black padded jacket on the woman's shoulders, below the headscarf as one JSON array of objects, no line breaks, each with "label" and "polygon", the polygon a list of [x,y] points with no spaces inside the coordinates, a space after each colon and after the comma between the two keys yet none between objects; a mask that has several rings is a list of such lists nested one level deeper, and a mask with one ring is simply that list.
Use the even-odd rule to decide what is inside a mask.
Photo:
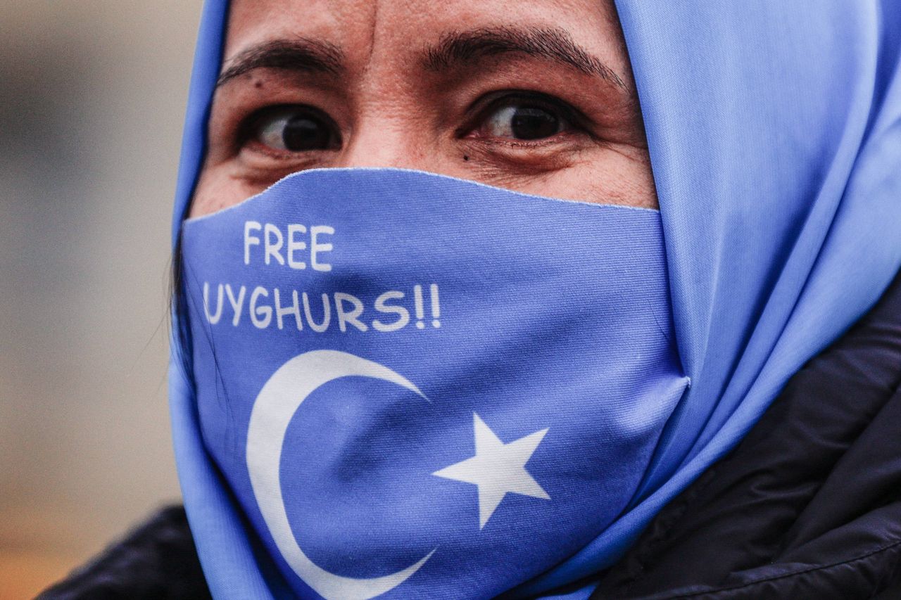
[{"label": "black padded jacket on the woman's shoulders, below the headscarf", "polygon": [[[592,598],[901,599],[899,386],[901,275],[594,577]],[[40,597],[209,592],[184,510],[171,507]]]}]

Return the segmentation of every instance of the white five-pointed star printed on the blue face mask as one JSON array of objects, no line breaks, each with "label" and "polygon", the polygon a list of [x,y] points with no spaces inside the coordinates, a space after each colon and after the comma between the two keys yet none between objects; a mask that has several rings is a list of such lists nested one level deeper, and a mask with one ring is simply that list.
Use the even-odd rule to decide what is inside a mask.
[{"label": "white five-pointed star printed on the blue face mask", "polygon": [[542,429],[505,444],[488,429],[478,414],[473,413],[472,416],[476,432],[476,456],[435,471],[432,475],[478,486],[478,528],[485,527],[485,523],[507,494],[531,495],[550,500],[551,496],[525,470],[525,463],[532,458],[532,453],[548,430]]}]

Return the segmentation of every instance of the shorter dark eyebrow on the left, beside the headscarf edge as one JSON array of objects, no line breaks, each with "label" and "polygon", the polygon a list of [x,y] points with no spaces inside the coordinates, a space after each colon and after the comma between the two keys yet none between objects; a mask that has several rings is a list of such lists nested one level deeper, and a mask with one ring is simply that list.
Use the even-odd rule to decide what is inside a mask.
[{"label": "shorter dark eyebrow on the left, beside the headscarf edge", "polygon": [[337,46],[309,38],[268,41],[229,59],[216,86],[222,86],[255,68],[281,68],[339,76],[344,71],[344,54]]}]

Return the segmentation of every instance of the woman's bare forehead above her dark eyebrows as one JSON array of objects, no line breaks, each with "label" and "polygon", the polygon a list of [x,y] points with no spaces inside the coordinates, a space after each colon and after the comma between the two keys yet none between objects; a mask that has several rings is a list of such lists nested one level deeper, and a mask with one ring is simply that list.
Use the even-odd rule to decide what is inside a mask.
[{"label": "woman's bare forehead above her dark eyebrows", "polygon": [[351,62],[403,61],[450,32],[528,27],[563,30],[614,71],[628,71],[612,0],[232,0],[225,56],[305,37]]}]

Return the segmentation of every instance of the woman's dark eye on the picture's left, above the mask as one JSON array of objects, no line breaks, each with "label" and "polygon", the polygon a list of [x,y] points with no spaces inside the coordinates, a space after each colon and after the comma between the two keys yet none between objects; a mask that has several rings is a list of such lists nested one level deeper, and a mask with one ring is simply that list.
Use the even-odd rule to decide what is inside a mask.
[{"label": "woman's dark eye on the picture's left, above the mask", "polygon": [[248,139],[278,152],[334,150],[341,147],[338,127],[310,106],[264,109],[250,123]]}]

